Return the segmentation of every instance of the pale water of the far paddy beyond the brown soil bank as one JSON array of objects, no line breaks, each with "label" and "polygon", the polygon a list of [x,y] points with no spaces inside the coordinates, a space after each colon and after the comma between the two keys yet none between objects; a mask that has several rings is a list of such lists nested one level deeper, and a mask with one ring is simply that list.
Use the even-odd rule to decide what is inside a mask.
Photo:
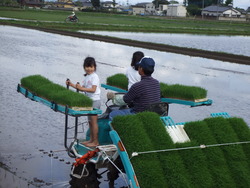
[{"label": "pale water of the far paddy beyond the brown soil bank", "polygon": [[250,56],[249,36],[225,36],[225,35],[214,36],[214,35],[194,35],[194,34],[192,35],[192,34],[172,34],[172,33],[169,34],[169,33],[114,32],[114,31],[80,31],[80,32]]}]

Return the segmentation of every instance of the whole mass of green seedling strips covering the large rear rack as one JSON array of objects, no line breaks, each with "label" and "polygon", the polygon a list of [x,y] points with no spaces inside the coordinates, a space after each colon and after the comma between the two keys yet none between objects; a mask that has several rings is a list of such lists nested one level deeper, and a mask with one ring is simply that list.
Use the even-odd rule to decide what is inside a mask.
[{"label": "whole mass of green seedling strips covering the large rear rack", "polygon": [[[250,129],[240,118],[189,122],[184,129],[191,141],[179,144],[173,143],[155,113],[118,116],[112,125],[129,156],[133,152],[249,141],[250,138]],[[133,157],[131,163],[143,188],[250,187],[249,147],[249,144],[227,145],[141,154]]]}]

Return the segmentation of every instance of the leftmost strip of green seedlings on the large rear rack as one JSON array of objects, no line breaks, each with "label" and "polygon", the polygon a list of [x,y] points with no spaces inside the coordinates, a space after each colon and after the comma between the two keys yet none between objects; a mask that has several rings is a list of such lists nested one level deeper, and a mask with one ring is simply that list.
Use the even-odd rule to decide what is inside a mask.
[{"label": "leftmost strip of green seedlings on the large rear rack", "polygon": [[[112,125],[126,146],[128,155],[153,150],[153,145],[136,115],[117,116]],[[140,187],[167,187],[161,163],[156,154],[140,155],[131,159]]]}]

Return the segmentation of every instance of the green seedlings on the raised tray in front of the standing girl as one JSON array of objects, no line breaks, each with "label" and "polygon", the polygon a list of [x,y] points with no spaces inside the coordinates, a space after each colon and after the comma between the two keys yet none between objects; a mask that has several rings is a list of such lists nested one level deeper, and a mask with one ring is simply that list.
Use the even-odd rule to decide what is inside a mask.
[{"label": "green seedlings on the raised tray in front of the standing girl", "polygon": [[35,95],[69,107],[91,107],[93,101],[80,93],[49,81],[41,75],[31,75],[21,79],[21,85]]}]

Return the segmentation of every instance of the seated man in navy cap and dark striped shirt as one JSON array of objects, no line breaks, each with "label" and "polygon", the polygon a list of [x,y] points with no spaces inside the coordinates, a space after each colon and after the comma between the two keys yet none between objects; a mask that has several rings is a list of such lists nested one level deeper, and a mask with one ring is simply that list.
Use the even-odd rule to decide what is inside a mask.
[{"label": "seated man in navy cap and dark striped shirt", "polygon": [[155,61],[150,57],[143,57],[138,63],[138,72],[141,75],[141,81],[133,84],[128,92],[123,96],[123,101],[127,104],[133,103],[133,107],[123,110],[115,110],[110,113],[112,120],[118,115],[129,115],[143,112],[152,104],[161,101],[160,83],[151,77],[154,72]]}]

